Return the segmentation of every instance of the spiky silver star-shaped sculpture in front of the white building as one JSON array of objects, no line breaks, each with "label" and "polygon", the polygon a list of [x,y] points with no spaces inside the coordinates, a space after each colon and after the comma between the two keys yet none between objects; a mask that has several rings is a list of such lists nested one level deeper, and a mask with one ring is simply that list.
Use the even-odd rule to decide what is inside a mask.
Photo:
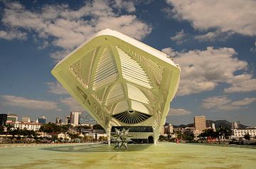
[{"label": "spiky silver star-shaped sculpture in front of the white building", "polygon": [[115,148],[120,149],[122,146],[124,146],[125,148],[128,148],[127,144],[131,140],[131,138],[129,136],[129,129],[125,130],[123,128],[122,131],[115,129],[115,131],[116,131],[116,133],[113,136],[113,141],[115,142],[114,149]]}]

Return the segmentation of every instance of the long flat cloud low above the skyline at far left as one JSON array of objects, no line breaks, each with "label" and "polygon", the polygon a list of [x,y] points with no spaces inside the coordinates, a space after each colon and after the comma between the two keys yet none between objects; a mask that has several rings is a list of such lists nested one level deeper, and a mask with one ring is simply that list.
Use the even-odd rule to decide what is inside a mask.
[{"label": "long flat cloud low above the skyline at far left", "polygon": [[25,97],[16,97],[12,95],[1,96],[5,105],[14,107],[25,107],[27,109],[58,109],[56,102],[49,102],[44,100],[26,99]]}]

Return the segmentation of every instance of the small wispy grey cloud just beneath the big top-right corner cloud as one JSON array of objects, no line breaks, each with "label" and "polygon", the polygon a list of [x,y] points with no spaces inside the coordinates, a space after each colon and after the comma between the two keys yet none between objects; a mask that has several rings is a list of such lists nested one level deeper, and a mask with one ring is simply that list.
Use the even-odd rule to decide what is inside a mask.
[{"label": "small wispy grey cloud just beneath the big top-right corner cloud", "polygon": [[223,33],[220,30],[216,30],[216,31],[210,31],[204,35],[194,36],[194,38],[199,41],[215,41],[215,40],[224,41],[224,40],[227,40],[232,35],[233,35],[233,32]]}]

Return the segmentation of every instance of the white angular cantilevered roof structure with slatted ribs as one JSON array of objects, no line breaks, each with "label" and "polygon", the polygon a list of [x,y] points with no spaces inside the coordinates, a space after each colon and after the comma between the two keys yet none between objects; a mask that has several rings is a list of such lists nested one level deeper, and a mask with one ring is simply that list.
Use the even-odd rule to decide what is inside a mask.
[{"label": "white angular cantilevered roof structure with slatted ribs", "polygon": [[168,55],[110,29],[92,36],[52,70],[107,133],[112,126],[152,126],[155,139],[180,72]]}]

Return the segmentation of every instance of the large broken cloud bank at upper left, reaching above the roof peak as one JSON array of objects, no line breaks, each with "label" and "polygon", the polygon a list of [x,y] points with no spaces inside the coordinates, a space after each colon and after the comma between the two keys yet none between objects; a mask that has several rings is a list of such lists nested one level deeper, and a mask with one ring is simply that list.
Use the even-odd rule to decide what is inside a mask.
[{"label": "large broken cloud bank at upper left, reaching above the roof peak", "polygon": [[[3,10],[1,22],[6,30],[0,32],[0,38],[1,34],[8,34],[14,29],[20,30],[20,34],[33,31],[37,34],[36,38],[63,48],[59,53],[73,50],[88,37],[105,28],[141,40],[151,32],[151,27],[135,15],[119,16],[113,10],[119,8],[133,11],[133,7],[128,1],[114,1],[114,4],[111,1],[92,1],[86,2],[77,10],[72,10],[65,4],[46,5],[41,9],[28,10],[18,2],[9,2]],[[18,38],[20,34],[14,34],[14,37]],[[61,58],[63,57],[65,55]],[[53,55],[52,58],[59,59],[60,55]]]}]

